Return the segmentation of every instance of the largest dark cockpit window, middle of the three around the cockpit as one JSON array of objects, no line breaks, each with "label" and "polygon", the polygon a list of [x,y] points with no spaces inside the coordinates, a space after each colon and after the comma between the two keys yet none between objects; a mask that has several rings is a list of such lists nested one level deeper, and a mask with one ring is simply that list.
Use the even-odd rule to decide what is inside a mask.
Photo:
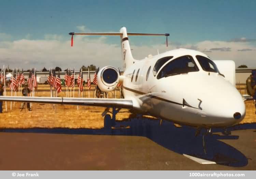
[{"label": "largest dark cockpit window, middle of the three around the cockpit", "polygon": [[169,63],[167,63],[162,70],[158,73],[157,79],[167,76],[187,74],[189,72],[197,72],[199,71],[194,59],[185,55],[182,57],[178,57]]}]

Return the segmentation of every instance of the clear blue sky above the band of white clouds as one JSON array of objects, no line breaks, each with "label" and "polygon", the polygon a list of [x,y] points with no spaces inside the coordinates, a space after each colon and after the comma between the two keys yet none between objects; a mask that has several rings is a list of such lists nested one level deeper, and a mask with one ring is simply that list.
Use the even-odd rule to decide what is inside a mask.
[{"label": "clear blue sky above the band of white clouds", "polygon": [[[69,32],[80,31],[78,26],[92,32],[119,31],[125,26],[129,32],[170,33],[169,41],[178,46],[243,38],[247,46],[242,49],[254,50],[255,17],[256,1],[6,0],[0,6],[0,41],[45,40],[46,34],[54,34],[64,42],[70,39]],[[161,37],[130,40],[136,46],[164,42]],[[119,40],[108,37],[104,43],[118,44]]]}]

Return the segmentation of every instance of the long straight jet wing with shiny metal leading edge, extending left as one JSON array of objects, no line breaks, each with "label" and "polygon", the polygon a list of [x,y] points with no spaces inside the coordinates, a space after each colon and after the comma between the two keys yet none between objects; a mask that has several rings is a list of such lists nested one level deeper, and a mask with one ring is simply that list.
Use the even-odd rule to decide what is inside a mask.
[{"label": "long straight jet wing with shiny metal leading edge, extending left", "polygon": [[26,96],[0,96],[0,101],[117,107],[117,108],[125,108],[125,109],[131,109],[133,107],[133,103],[131,100],[106,99],[106,98],[61,98],[61,97],[50,98],[50,97],[26,97]]}]

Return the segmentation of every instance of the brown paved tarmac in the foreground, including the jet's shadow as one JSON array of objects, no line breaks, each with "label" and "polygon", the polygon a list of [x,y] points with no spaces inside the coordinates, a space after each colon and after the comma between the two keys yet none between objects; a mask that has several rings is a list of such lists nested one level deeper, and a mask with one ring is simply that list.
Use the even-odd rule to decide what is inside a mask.
[{"label": "brown paved tarmac in the foreground, including the jet's shadow", "polygon": [[[134,129],[134,125],[129,129],[111,131],[109,129],[2,130],[0,170],[255,170],[256,168],[255,125],[243,125],[239,130],[232,128],[231,136],[223,136],[220,132],[207,136],[205,155],[201,135],[195,137],[194,129],[184,126],[175,128],[171,123],[152,125],[154,123],[148,120],[143,121],[146,122],[140,121],[140,125],[137,121],[138,130]],[[202,165],[186,158],[183,153],[224,163]]]}]

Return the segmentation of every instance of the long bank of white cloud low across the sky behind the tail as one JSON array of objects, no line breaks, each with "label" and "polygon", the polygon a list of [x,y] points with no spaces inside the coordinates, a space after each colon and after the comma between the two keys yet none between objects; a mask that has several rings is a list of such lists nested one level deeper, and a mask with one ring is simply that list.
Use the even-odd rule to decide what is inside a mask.
[{"label": "long bank of white cloud low across the sky behind the tail", "polygon": [[[74,45],[70,46],[70,40],[65,41],[60,35],[46,34],[43,40],[22,39],[16,41],[0,41],[0,66],[9,65],[10,68],[43,69],[45,66],[53,68],[60,66],[62,69],[76,68],[82,65],[95,64],[103,67],[112,65],[116,68],[123,67],[119,39],[116,44],[106,43],[106,37],[88,38],[87,36],[74,36]],[[213,60],[234,60],[236,65],[246,64],[248,67],[256,67],[256,48],[249,43],[203,41],[195,44],[177,45],[169,43],[156,44],[154,46],[132,45],[133,57],[142,59],[147,55],[163,53],[167,50],[185,47],[198,49],[209,55]],[[230,49],[230,51],[210,49]],[[241,49],[253,49],[243,50]],[[240,51],[239,51],[240,50]]]}]

